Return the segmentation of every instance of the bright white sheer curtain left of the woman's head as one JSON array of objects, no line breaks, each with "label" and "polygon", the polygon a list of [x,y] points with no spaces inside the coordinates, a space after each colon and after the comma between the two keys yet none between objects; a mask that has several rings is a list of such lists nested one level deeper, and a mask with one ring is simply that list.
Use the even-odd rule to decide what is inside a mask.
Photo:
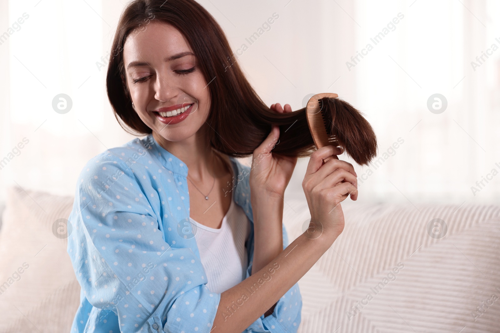
[{"label": "bright white sheer curtain left of the woman's head", "polygon": [[[10,89],[1,111],[9,134],[2,136],[0,158],[27,143],[0,170],[1,198],[8,185],[73,195],[88,159],[132,138],[111,113],[106,66],[98,66],[105,63],[118,15],[106,16],[101,0],[8,1],[1,32],[27,18],[0,45],[9,48],[1,85]],[[67,97],[60,100],[60,94]],[[60,112],[67,112],[56,112],[54,101],[66,104]]]}]

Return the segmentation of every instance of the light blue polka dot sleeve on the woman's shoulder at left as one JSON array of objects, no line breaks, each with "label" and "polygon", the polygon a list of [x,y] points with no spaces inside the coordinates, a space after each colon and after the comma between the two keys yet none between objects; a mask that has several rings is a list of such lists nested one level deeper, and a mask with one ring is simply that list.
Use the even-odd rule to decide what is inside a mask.
[{"label": "light blue polka dot sleeve on the woman's shoulder at left", "polygon": [[85,332],[112,318],[121,332],[210,332],[220,294],[206,287],[190,248],[165,241],[149,201],[155,195],[114,158],[82,169],[67,252],[93,307]]}]

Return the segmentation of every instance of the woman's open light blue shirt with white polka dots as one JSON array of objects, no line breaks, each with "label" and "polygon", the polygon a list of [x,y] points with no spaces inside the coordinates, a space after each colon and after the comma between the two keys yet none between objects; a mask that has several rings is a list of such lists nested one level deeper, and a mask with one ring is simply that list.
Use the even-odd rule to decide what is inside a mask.
[{"label": "woman's open light blue shirt with white polka dots", "polygon": [[[245,243],[248,278],[254,243],[250,167],[230,161],[235,177],[224,192],[251,222]],[[67,252],[81,286],[71,332],[212,330],[220,294],[206,287],[188,223],[186,176],[187,166],[151,134],[106,150],[83,167],[68,218],[72,231]],[[283,226],[283,249],[287,246]],[[260,316],[243,332],[297,332],[301,309],[295,284],[272,315]],[[224,314],[230,319],[235,311],[236,303]]]}]

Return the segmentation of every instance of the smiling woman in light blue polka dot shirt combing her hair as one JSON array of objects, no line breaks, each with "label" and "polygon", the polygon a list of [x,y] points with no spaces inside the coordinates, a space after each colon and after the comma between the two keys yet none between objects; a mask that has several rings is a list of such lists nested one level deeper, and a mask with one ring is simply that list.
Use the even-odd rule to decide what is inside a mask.
[{"label": "smiling woman in light blue polka dot shirt combing her hair", "polygon": [[[338,147],[311,155],[303,110],[269,110],[229,53],[194,0],[124,9],[107,92],[120,124],[146,136],[80,173],[71,332],[297,331],[297,281],[342,232],[338,204],[356,200],[356,174],[338,159],[323,164]],[[249,154],[251,168],[234,159]],[[297,156],[309,155],[310,228],[288,246],[282,198]]]}]

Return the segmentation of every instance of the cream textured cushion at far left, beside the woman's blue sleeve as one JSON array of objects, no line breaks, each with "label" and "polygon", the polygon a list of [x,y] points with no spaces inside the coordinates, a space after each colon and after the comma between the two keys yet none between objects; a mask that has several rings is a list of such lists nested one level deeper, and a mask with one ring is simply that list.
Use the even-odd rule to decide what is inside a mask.
[{"label": "cream textured cushion at far left, beside the woman's blue sleeve", "polygon": [[0,332],[69,332],[80,287],[66,253],[64,228],[56,221],[69,216],[73,198],[19,187],[8,188],[6,198],[0,231]]}]

